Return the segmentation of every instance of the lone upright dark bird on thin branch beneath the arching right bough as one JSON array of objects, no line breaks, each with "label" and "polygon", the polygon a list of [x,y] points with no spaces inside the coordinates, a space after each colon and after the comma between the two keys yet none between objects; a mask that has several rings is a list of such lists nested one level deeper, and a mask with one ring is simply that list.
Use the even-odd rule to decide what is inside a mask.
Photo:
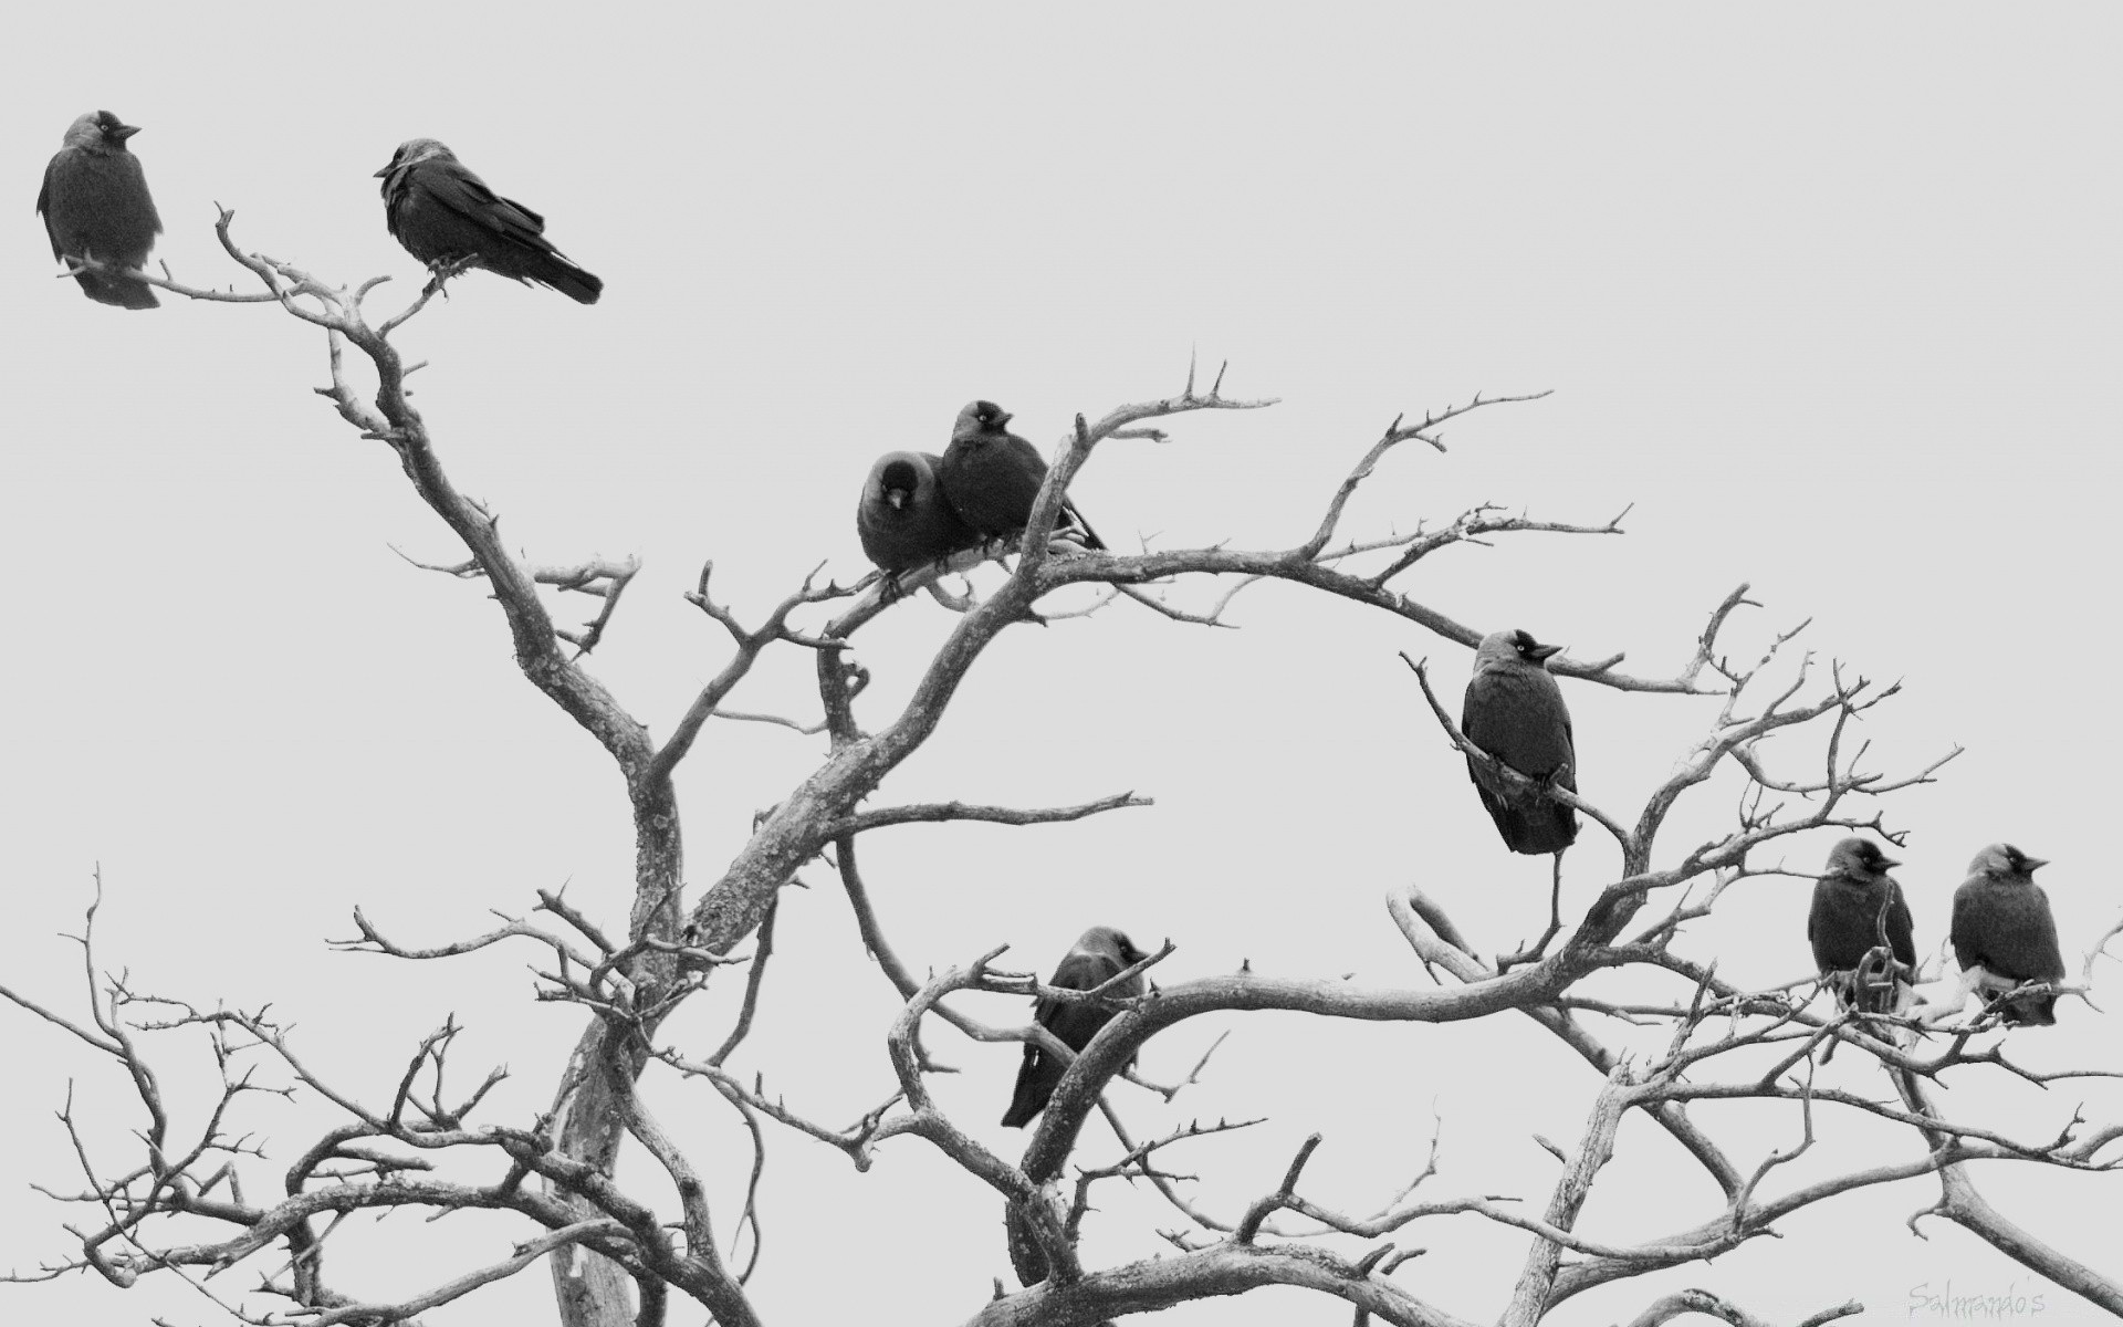
[{"label": "lone upright dark bird on thin branch beneath the arching right bough", "polygon": [[[1563,645],[1543,645],[1524,631],[1492,631],[1482,637],[1467,679],[1467,703],[1461,707],[1461,733],[1529,779],[1577,792],[1571,711],[1563,707],[1563,688],[1548,673],[1548,656],[1560,652]],[[1512,851],[1563,851],[1577,841],[1577,811],[1541,790],[1509,790],[1471,756],[1467,777]]]}]

